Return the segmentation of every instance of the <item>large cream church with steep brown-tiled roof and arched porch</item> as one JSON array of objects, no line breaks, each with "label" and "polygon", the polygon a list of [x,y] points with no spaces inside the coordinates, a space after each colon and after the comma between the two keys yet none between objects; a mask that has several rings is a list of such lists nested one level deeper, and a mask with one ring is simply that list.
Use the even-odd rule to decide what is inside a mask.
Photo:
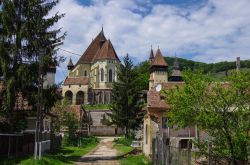
[{"label": "large cream church with steep brown-tiled roof and arched porch", "polygon": [[75,65],[69,60],[62,95],[72,105],[109,104],[119,64],[115,49],[102,29]]}]

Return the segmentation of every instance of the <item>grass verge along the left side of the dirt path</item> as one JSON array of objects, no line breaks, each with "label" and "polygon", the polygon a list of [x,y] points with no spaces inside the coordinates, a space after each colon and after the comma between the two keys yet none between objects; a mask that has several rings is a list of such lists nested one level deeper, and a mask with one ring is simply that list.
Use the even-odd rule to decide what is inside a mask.
[{"label": "grass verge along the left side of the dirt path", "polygon": [[97,146],[97,141],[84,144],[81,148],[73,146],[64,146],[55,154],[47,154],[41,160],[35,160],[32,156],[15,158],[15,159],[0,159],[3,165],[65,165],[73,164],[82,155],[87,154]]}]

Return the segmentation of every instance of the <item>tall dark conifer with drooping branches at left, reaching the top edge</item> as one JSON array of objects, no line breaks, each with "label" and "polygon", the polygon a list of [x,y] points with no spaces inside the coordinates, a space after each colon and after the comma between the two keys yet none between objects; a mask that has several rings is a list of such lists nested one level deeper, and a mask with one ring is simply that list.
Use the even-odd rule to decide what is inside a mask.
[{"label": "tall dark conifer with drooping branches at left, reaching the top edge", "polygon": [[44,75],[49,65],[61,61],[56,55],[56,46],[65,34],[59,36],[60,29],[52,29],[52,26],[63,15],[48,17],[57,3],[57,0],[2,2],[0,64],[6,88],[2,111],[6,115],[10,132],[18,131],[13,125],[16,94],[21,92],[29,101],[36,102],[34,100],[37,99],[37,86],[41,77],[38,72],[39,63],[42,63]]}]

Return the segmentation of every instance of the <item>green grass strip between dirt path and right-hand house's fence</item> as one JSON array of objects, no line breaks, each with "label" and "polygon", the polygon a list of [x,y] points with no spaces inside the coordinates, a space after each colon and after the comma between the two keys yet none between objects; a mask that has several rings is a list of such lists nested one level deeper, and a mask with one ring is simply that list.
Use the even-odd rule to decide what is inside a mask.
[{"label": "green grass strip between dirt path and right-hand house's fence", "polygon": [[130,147],[131,139],[119,138],[114,141],[114,147],[119,155],[124,155],[119,159],[121,165],[152,165],[140,151],[133,152]]}]

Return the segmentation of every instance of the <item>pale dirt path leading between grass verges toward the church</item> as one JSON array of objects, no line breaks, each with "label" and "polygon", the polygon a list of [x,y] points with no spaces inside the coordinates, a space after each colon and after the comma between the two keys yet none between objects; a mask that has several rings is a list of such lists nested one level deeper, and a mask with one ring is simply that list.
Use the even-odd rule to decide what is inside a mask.
[{"label": "pale dirt path leading between grass verges toward the church", "polygon": [[120,165],[117,158],[117,151],[112,146],[114,137],[104,137],[94,151],[84,155],[76,165]]}]

